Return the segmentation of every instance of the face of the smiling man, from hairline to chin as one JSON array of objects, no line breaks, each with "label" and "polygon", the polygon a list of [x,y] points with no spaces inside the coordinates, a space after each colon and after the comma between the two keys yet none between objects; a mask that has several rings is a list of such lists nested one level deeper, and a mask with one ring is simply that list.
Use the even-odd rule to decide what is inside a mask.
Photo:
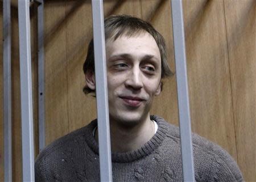
[{"label": "face of the smiling man, from hairline to chin", "polygon": [[110,121],[134,125],[149,118],[160,94],[161,57],[149,33],[106,41]]}]

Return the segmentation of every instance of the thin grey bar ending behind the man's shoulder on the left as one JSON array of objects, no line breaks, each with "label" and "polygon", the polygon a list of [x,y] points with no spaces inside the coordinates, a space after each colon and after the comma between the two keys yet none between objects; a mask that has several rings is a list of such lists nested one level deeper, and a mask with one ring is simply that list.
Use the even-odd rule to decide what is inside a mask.
[{"label": "thin grey bar ending behind the man's shoulder on the left", "polygon": [[38,121],[39,151],[46,145],[46,127],[44,120],[44,1],[38,6]]}]

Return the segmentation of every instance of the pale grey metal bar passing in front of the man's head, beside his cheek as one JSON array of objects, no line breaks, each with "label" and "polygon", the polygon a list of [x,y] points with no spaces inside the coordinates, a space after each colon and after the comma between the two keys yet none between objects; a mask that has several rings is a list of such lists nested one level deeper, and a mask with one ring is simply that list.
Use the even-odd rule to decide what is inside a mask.
[{"label": "pale grey metal bar passing in front of the man's head, beside his cheek", "polygon": [[108,85],[106,79],[104,14],[102,1],[92,0],[92,14],[101,181],[111,182],[112,163],[109,132]]}]

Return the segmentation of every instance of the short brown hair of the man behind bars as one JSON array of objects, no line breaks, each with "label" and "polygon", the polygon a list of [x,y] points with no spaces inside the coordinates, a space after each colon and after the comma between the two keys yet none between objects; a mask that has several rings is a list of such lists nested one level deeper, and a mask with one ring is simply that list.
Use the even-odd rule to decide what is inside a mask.
[{"label": "short brown hair of the man behind bars", "polygon": [[[112,15],[104,20],[105,27],[105,40],[112,39],[117,40],[118,37],[125,35],[128,37],[139,35],[142,32],[148,32],[154,37],[156,44],[158,45],[160,56],[161,56],[161,78],[172,75],[172,71],[167,62],[166,44],[163,36],[148,22],[142,19],[135,18],[130,15]],[[83,66],[84,73],[88,70],[94,73],[94,48],[93,39],[90,41],[88,46],[88,53]],[[161,83],[161,89],[162,89]],[[83,88],[85,94],[94,92],[89,87]]]}]

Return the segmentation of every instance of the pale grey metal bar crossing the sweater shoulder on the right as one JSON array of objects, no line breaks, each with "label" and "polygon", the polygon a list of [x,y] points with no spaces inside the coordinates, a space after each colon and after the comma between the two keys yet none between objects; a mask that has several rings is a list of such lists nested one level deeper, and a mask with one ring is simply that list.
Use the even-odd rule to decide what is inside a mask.
[{"label": "pale grey metal bar crossing the sweater shoulder on the right", "polygon": [[187,65],[185,56],[185,37],[183,26],[183,10],[181,0],[172,0],[172,27],[174,32],[175,67],[177,79],[177,95],[179,105],[179,123],[181,137],[181,154],[183,164],[183,180],[195,181],[193,168],[193,150],[191,139],[191,120],[189,113]]}]

